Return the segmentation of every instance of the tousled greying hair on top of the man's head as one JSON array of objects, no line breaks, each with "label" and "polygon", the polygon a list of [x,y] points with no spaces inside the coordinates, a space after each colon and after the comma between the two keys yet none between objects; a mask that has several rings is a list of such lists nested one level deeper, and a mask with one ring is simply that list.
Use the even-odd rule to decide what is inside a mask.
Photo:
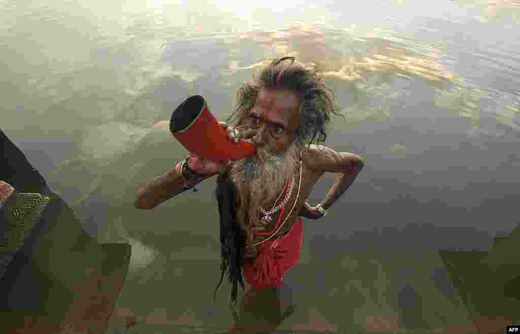
[{"label": "tousled greying hair on top of the man's head", "polygon": [[[283,63],[291,60],[291,63]],[[294,143],[302,146],[306,142],[317,144],[326,141],[326,126],[330,122],[330,114],[341,115],[334,109],[334,93],[321,82],[321,75],[315,68],[306,68],[294,63],[294,57],[283,57],[273,60],[246,82],[237,92],[237,105],[227,122],[243,119],[253,108],[258,92],[267,89],[286,89],[300,97],[300,127],[294,133]],[[343,116],[343,115],[341,115]],[[309,140],[310,139],[310,140]]]}]

